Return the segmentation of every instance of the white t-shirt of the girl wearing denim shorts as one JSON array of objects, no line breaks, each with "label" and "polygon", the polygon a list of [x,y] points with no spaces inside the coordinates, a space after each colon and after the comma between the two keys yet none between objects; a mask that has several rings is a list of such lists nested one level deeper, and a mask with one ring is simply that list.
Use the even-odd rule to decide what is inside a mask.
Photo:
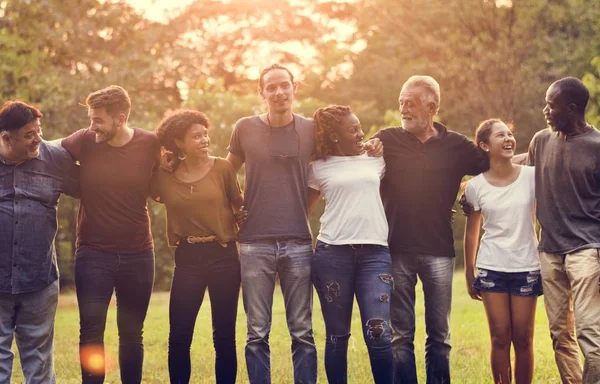
[{"label": "white t-shirt of the girl wearing denim shorts", "polygon": [[467,183],[465,196],[476,211],[481,211],[485,231],[477,253],[477,268],[498,272],[540,269],[534,188],[534,168],[526,166],[505,187],[491,185],[483,174]]}]

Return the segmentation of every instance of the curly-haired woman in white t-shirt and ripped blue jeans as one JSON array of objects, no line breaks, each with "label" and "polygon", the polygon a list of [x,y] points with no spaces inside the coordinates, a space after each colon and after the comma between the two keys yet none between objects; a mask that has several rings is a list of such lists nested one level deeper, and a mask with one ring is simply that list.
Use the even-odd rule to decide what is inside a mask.
[{"label": "curly-haired woman in white t-shirt and ripped blue jeans", "polygon": [[325,370],[330,383],[346,383],[354,296],[375,383],[392,383],[390,328],[392,261],[379,185],[382,157],[364,152],[360,121],[349,107],[318,109],[316,160],[309,170],[309,201],[325,200],[312,264],[325,320]]}]

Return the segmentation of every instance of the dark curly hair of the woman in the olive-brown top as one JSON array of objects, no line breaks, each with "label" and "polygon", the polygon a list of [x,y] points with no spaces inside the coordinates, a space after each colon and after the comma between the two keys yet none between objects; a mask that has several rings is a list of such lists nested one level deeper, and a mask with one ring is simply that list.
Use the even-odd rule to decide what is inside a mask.
[{"label": "dark curly hair of the woman in the olive-brown top", "polygon": [[200,111],[192,109],[179,109],[166,116],[156,128],[156,136],[160,145],[173,152],[176,156],[180,155],[180,150],[175,139],[183,140],[187,131],[194,124],[209,127],[208,117]]}]

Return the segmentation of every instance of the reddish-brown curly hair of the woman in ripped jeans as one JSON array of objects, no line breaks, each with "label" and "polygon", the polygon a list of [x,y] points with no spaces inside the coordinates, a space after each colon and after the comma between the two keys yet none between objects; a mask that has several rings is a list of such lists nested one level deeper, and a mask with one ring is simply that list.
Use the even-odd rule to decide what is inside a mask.
[{"label": "reddish-brown curly hair of the woman in ripped jeans", "polygon": [[352,110],[346,105],[330,105],[319,108],[313,115],[315,124],[315,159],[324,159],[333,153],[333,143],[329,136],[336,132],[336,126],[342,119],[351,115]]}]

